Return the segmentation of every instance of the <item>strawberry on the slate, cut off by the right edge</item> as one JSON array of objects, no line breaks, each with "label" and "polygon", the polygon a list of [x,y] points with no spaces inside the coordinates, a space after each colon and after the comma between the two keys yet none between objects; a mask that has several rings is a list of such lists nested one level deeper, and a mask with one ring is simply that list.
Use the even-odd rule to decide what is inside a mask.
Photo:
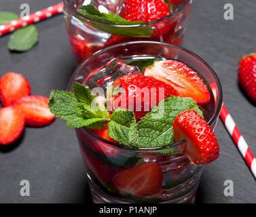
[{"label": "strawberry on the slate, cut off by the right edge", "polygon": [[239,63],[238,80],[242,89],[256,102],[256,53],[243,56]]}]

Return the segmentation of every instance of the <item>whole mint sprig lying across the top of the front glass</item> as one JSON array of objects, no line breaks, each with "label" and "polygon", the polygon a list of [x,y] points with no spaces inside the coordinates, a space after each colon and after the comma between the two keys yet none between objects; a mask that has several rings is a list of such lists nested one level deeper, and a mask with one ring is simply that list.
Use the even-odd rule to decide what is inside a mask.
[{"label": "whole mint sprig lying across the top of the front glass", "polygon": [[117,109],[109,117],[105,106],[96,102],[88,87],[75,83],[74,92],[52,90],[49,108],[56,117],[67,121],[67,127],[101,129],[109,123],[109,137],[134,147],[156,147],[175,142],[172,123],[187,109],[203,112],[192,98],[170,96],[136,123],[133,111]]}]

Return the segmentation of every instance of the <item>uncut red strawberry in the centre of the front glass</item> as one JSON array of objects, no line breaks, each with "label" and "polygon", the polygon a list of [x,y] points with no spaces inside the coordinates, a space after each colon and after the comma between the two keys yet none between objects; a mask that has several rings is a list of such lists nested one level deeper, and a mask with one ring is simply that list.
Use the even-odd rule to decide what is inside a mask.
[{"label": "uncut red strawberry in the centre of the front glass", "polygon": [[177,96],[172,86],[141,74],[124,75],[112,84],[113,87],[116,85],[120,85],[124,93],[110,99],[112,108],[114,110],[118,107],[130,109],[134,111],[136,120],[144,117],[164,98],[171,95]]}]

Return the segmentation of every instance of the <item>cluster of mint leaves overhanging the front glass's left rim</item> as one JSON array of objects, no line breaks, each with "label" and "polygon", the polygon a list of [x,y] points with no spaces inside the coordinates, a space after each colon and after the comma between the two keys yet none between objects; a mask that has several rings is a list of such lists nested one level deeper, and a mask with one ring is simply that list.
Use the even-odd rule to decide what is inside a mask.
[{"label": "cluster of mint leaves overhanging the front glass's left rim", "polygon": [[94,100],[88,87],[75,83],[74,93],[52,90],[48,106],[56,117],[67,121],[69,128],[101,129],[109,121],[109,113],[105,108],[95,111],[91,106]]}]

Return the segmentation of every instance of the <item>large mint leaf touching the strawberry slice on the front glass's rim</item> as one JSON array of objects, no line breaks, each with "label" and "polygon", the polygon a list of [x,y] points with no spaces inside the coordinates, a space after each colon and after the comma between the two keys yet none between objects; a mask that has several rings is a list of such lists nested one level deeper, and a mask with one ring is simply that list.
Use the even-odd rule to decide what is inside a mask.
[{"label": "large mint leaf touching the strawberry slice on the front glass's rim", "polygon": [[198,105],[192,98],[170,96],[162,100],[150,113],[137,124],[139,147],[155,147],[172,144],[172,123],[187,109],[196,109]]}]

